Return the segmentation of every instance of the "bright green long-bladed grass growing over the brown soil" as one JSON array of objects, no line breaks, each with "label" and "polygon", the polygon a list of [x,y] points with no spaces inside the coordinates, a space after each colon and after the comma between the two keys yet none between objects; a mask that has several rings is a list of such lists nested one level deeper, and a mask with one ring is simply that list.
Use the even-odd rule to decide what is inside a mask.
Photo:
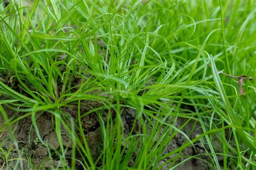
[{"label": "bright green long-bladed grass growing over the brown soil", "polygon": [[[239,79],[221,74],[256,77],[255,9],[250,0],[18,1],[6,8],[2,3],[0,94],[5,98],[0,112],[5,124],[0,134],[31,117],[39,143],[48,146],[36,119],[49,112],[60,145],[56,153],[65,168],[75,169],[76,152],[84,168],[178,167],[199,156],[177,161],[198,142],[212,168],[255,168],[255,81],[242,78],[240,94]],[[102,104],[81,112],[83,101]],[[78,105],[78,120],[63,112],[69,104]],[[24,115],[10,118],[2,105]],[[124,108],[135,110],[140,133],[133,129],[124,135]],[[106,122],[103,110],[108,110]],[[104,144],[97,160],[81,123],[92,112],[99,118]],[[179,118],[186,122],[177,127]],[[193,139],[183,132],[192,120],[203,130]],[[65,163],[70,158],[65,157],[60,126],[72,134],[71,165]],[[186,142],[164,154],[178,133]],[[22,160],[13,133],[11,138]],[[8,167],[11,160],[3,155]]]}]

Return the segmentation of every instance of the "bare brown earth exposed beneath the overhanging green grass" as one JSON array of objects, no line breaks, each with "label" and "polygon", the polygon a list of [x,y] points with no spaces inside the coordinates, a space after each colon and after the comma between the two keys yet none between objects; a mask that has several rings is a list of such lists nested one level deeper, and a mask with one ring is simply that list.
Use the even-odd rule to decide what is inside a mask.
[{"label": "bare brown earth exposed beneath the overhanging green grass", "polygon": [[[91,105],[92,103],[88,102],[86,105],[86,101],[83,101],[84,105],[81,105],[80,111],[81,113],[86,113],[87,111],[91,110]],[[99,103],[93,103],[93,107],[99,107]],[[4,110],[6,111],[6,114],[10,119],[13,119],[14,117],[21,116],[22,113],[16,113],[15,111],[12,111],[6,105],[3,105]],[[62,111],[65,113],[65,115],[68,115],[72,117],[75,120],[75,124],[77,123],[78,119],[78,108],[76,104],[69,105],[69,107],[64,107],[62,108]],[[136,111],[133,109],[125,108],[123,110],[125,114],[122,114],[122,131],[124,133],[124,136],[127,137],[128,134],[131,132],[132,125],[134,124],[135,121],[135,114]],[[103,111],[103,120],[104,122],[107,119],[107,111]],[[114,118],[114,114],[112,116]],[[176,124],[177,128],[179,128],[180,124],[183,124],[185,120],[180,119],[178,123]],[[188,123],[183,131],[185,133],[190,133],[191,126],[193,122]],[[55,151],[59,150],[59,142],[57,138],[57,134],[55,132],[55,121],[53,119],[53,116],[48,113],[44,112],[41,115],[38,116],[37,118],[37,126],[38,126],[38,131],[43,139],[44,143],[48,144],[50,147],[50,150],[48,150],[47,147],[42,145],[38,140],[37,134],[35,129],[32,126],[32,121],[30,117],[26,117],[21,119],[15,124],[11,125],[11,129],[14,131],[14,136],[16,140],[18,141],[17,146],[19,150],[21,150],[24,154],[22,159],[23,162],[23,167],[27,167],[27,162],[25,160],[28,160],[28,157],[32,158],[31,160],[33,161],[33,164],[35,165],[36,168],[39,167],[44,167],[44,168],[51,168],[53,166],[59,166],[59,160],[58,157],[56,157]],[[134,130],[132,134],[137,134],[140,133],[140,128],[139,128],[139,123],[136,122],[134,126]],[[198,134],[201,134],[201,130],[199,129],[200,125],[197,125],[198,129],[196,128],[196,131],[191,133],[190,138],[194,138]],[[101,150],[103,149],[103,140],[102,140],[102,134],[100,132],[100,125],[99,125],[99,118],[95,112],[92,112],[89,115],[86,115],[82,117],[82,127],[84,130],[84,134],[86,136],[87,143],[89,145],[89,148],[91,150],[91,154],[93,159],[97,159],[100,155]],[[15,145],[14,141],[10,138],[10,133],[8,129],[4,128],[4,118],[2,115],[0,115],[0,146],[2,146],[3,151],[7,152],[8,150],[11,150],[9,154],[9,160],[10,159],[15,159],[18,158],[18,153],[15,151]],[[163,126],[164,130],[165,126]],[[65,130],[65,128],[62,126],[60,128],[61,136],[62,136],[62,143],[65,148],[67,148],[66,156],[71,157],[71,150],[72,150],[72,143],[70,140],[70,134],[68,131]],[[82,141],[82,136],[78,131],[76,131],[78,134],[79,138]],[[186,138],[180,134],[177,133],[176,136],[171,140],[171,142],[165,147],[164,149],[164,155],[167,153],[170,153],[171,151],[175,150],[176,148],[180,147],[183,145],[186,141]],[[176,164],[178,162],[183,161],[186,157],[185,156],[193,156],[198,153],[205,153],[203,147],[200,145],[195,145],[195,147],[187,147],[183,152],[181,152],[179,159],[176,161]],[[53,160],[49,159],[49,154],[51,154],[51,157]],[[0,155],[3,155],[1,153]],[[78,154],[77,154],[78,155]],[[5,155],[6,156],[6,155]],[[158,166],[161,164],[164,164],[165,161],[172,159],[176,156],[176,154],[171,155],[170,157],[161,160]],[[182,157],[184,156],[184,157]],[[78,155],[79,158],[79,155]],[[130,160],[130,166],[132,166],[133,161],[136,158],[136,154],[133,155],[132,159]],[[207,159],[204,156],[200,156],[199,158],[201,159]],[[0,157],[0,165],[3,165],[5,162],[5,159]],[[15,166],[17,160],[12,160],[9,162],[9,167]],[[70,160],[67,160],[67,164],[70,165],[71,162]],[[100,162],[99,162],[100,164]],[[167,169],[171,164],[166,164],[163,169]],[[77,168],[81,167],[79,163],[77,162],[76,164]],[[61,165],[60,165],[61,167]],[[208,169],[210,167],[207,166],[207,164],[199,159],[190,159],[186,162],[184,162],[183,165],[179,166],[176,169]]]}]

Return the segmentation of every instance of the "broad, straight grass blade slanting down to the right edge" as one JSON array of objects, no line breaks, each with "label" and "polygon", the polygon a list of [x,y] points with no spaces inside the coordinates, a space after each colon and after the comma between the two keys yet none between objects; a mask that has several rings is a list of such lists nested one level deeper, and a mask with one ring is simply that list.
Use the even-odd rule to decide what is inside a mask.
[{"label": "broad, straight grass blade slanting down to the right edge", "polygon": [[[238,117],[235,115],[235,112],[233,110],[233,108],[231,107],[231,104],[230,102],[228,101],[228,97],[226,95],[226,92],[225,92],[225,89],[224,89],[224,86],[223,86],[223,83],[221,82],[220,80],[220,77],[219,77],[219,74],[218,74],[218,70],[215,66],[215,62],[212,58],[212,56],[208,56],[210,58],[210,61],[211,61],[211,65],[212,65],[212,75],[213,75],[213,79],[214,79],[214,82],[216,84],[216,86],[218,87],[219,89],[219,92],[220,92],[220,96],[222,98],[222,101],[225,105],[225,110],[227,111],[227,115],[228,117],[230,118],[231,120],[231,123],[236,125],[236,126],[241,126],[242,123],[239,122],[239,119]],[[233,133],[234,133],[234,136],[235,136],[235,131],[234,131],[234,128],[232,128],[233,130]],[[235,129],[241,140],[246,144],[247,147],[249,147],[253,152],[256,152],[256,148],[255,146],[252,144],[252,142],[247,138],[245,132],[241,129]],[[239,144],[238,144],[238,141],[235,140],[235,143],[237,145],[237,149],[238,149],[238,153],[240,152],[240,149],[239,149]],[[239,154],[240,155],[240,154]],[[240,157],[240,156],[239,156]]]}]

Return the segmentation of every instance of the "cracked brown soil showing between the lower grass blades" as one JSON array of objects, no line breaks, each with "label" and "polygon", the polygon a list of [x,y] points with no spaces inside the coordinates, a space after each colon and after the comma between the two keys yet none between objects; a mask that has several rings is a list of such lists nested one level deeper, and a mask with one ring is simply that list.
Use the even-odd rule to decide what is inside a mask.
[{"label": "cracked brown soil showing between the lower grass blades", "polygon": [[[15,112],[4,107],[5,111],[8,112],[8,117],[11,117],[12,115],[15,115]],[[90,111],[86,107],[82,107],[82,111]],[[65,107],[63,108],[63,111],[71,116],[74,119],[77,119],[77,105],[71,105],[70,107]],[[122,116],[122,122],[124,123],[124,130],[123,133],[127,137],[129,135],[129,132],[132,128],[132,124],[134,122],[134,118],[132,115],[135,113],[134,110],[131,109],[125,109],[125,116]],[[19,116],[23,115],[22,113],[18,114]],[[105,115],[106,118],[106,115]],[[1,116],[0,117],[0,123],[4,124],[4,118]],[[179,120],[179,123],[184,123],[182,120]],[[51,168],[52,166],[58,166],[58,164],[61,167],[61,162],[58,160],[50,161],[47,158],[48,156],[48,149],[52,152],[53,150],[58,150],[59,149],[59,142],[57,139],[57,135],[55,132],[54,124],[52,124],[52,118],[51,114],[49,113],[44,113],[41,116],[38,117],[37,119],[37,126],[39,130],[39,134],[41,135],[42,139],[49,144],[49,148],[46,146],[43,146],[39,143],[37,134],[35,132],[35,129],[31,126],[32,121],[31,118],[25,118],[22,119],[21,121],[18,121],[16,124],[12,124],[11,128],[14,130],[14,136],[16,137],[17,141],[19,141],[19,147],[22,149],[22,152],[24,152],[23,159],[26,159],[25,155],[30,155],[33,160],[33,164],[35,165],[35,168],[38,167],[45,167],[45,168]],[[99,125],[99,120],[96,114],[90,114],[88,116],[85,116],[82,118],[82,125],[83,125],[83,130],[87,139],[87,143],[89,145],[90,150],[92,151],[92,157],[96,160],[103,149],[103,141],[102,141],[102,136],[100,133],[100,125]],[[180,125],[177,124],[177,127]],[[185,132],[190,132],[192,124],[187,124],[187,126],[183,129]],[[2,128],[2,127],[1,127]],[[164,128],[163,128],[164,130]],[[138,133],[134,132],[134,133]],[[150,131],[149,131],[150,133]],[[193,139],[195,135],[199,134],[200,132],[194,131],[193,134],[191,134],[191,138]],[[67,148],[67,151],[65,155],[67,157],[71,157],[71,150],[72,150],[72,143],[70,141],[70,134],[68,131],[65,130],[65,128],[62,127],[61,129],[61,135],[63,139],[63,145]],[[181,145],[184,144],[185,142],[185,137],[182,136],[181,134],[177,134],[172,141],[170,141],[169,144],[165,146],[164,153],[167,154],[172,150],[175,150],[179,148]],[[4,145],[2,145],[2,148],[5,151],[10,150],[10,157],[15,158],[18,157],[18,153],[14,150],[12,150],[13,146],[13,141],[10,138],[10,132],[8,130],[5,130],[2,132],[0,136],[0,141],[4,141]],[[186,155],[186,156],[193,156],[197,155],[198,153],[205,153],[202,146],[200,145],[195,145],[194,147],[188,147],[186,148],[181,155]],[[172,157],[175,157],[175,155],[172,155]],[[170,157],[171,158],[171,157]],[[202,159],[207,160],[206,157],[201,157]],[[133,158],[134,159],[134,158]],[[130,164],[134,162],[134,160],[130,160]],[[167,159],[166,159],[167,160]],[[184,159],[179,158],[178,162],[182,161]],[[70,161],[70,160],[68,160]],[[1,160],[1,164],[3,165],[4,160]],[[165,160],[159,162],[159,166],[163,164]],[[71,162],[70,162],[71,163]],[[69,164],[70,164],[69,163]],[[16,160],[12,160],[10,162],[10,167],[15,167],[17,164]],[[23,161],[23,164],[26,165],[26,161]],[[165,165],[163,168],[166,169],[170,166],[170,164]],[[26,167],[26,166],[25,166]],[[27,167],[26,167],[27,168]],[[77,163],[77,168],[83,169],[82,166]],[[207,164],[202,161],[202,160],[197,160],[197,159],[191,159],[189,161],[186,161],[185,164],[181,165],[177,169],[207,169],[209,168]]]}]

